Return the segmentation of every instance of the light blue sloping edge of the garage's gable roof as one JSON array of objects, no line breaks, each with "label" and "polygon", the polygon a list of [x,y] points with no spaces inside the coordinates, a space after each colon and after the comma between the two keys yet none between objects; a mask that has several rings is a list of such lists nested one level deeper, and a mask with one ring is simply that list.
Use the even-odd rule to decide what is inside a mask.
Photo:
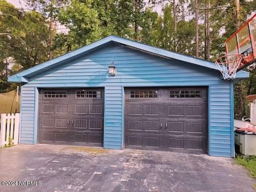
[{"label": "light blue sloping edge of the garage's gable roof", "polygon": [[[218,70],[213,62],[206,61],[203,59],[198,59],[191,57],[189,55],[167,51],[158,47],[154,47],[151,45],[139,43],[132,41],[130,39],[110,35],[108,37],[102,38],[97,42],[91,43],[89,45],[83,46],[75,51],[66,53],[58,58],[43,62],[39,65],[31,67],[29,69],[23,70],[18,74],[12,75],[8,78],[9,82],[28,82],[28,78],[34,76],[36,74],[42,73],[43,71],[52,69],[62,63],[68,62],[70,60],[74,60],[76,58],[81,57],[82,55],[90,54],[94,51],[100,50],[103,47],[109,46],[113,43],[118,43],[133,49],[137,49],[143,52],[147,52],[149,54],[158,55],[160,57],[164,57],[167,59],[179,60],[182,62],[189,63],[191,65],[195,65],[198,67],[209,68],[213,70]],[[246,78],[249,77],[249,73],[246,71],[239,71],[237,73],[237,78]]]}]

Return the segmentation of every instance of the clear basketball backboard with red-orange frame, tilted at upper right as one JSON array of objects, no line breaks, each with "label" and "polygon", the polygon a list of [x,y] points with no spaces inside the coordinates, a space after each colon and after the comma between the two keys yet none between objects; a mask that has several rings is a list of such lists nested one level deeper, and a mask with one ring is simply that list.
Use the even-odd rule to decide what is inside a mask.
[{"label": "clear basketball backboard with red-orange frame, tilted at upper right", "polygon": [[237,71],[256,62],[256,14],[227,39],[225,46],[227,55],[243,55]]}]

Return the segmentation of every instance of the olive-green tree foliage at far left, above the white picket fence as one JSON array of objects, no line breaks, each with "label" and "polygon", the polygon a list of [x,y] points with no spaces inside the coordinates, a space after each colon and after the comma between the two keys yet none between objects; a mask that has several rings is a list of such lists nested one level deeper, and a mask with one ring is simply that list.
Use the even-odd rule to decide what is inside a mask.
[{"label": "olive-green tree foliage at far left, above the white picket fence", "polygon": [[0,92],[4,92],[12,85],[7,76],[13,65],[26,69],[46,60],[47,26],[41,22],[43,15],[17,9],[3,0],[0,13]]}]

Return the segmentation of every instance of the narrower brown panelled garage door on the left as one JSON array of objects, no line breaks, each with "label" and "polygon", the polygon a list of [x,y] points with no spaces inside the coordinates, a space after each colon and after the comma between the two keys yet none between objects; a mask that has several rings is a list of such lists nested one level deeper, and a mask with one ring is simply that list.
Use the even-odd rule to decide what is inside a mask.
[{"label": "narrower brown panelled garage door on the left", "polygon": [[39,143],[103,146],[103,89],[43,89]]}]

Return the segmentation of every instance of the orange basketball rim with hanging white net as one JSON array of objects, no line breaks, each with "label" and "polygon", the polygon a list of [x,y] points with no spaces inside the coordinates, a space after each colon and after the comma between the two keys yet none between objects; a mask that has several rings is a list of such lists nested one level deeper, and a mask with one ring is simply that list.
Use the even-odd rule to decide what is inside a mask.
[{"label": "orange basketball rim with hanging white net", "polygon": [[241,54],[229,54],[215,59],[215,64],[223,75],[224,79],[236,78],[237,68],[243,59]]}]

